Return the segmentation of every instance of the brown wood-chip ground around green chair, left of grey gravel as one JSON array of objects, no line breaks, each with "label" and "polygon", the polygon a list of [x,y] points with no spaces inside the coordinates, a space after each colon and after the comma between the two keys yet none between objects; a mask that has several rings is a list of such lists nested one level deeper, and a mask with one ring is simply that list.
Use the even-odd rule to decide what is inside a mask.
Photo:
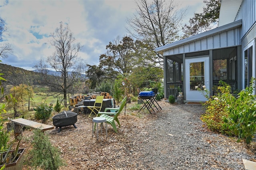
[{"label": "brown wood-chip ground around green chair, left of grey gravel", "polygon": [[[160,105],[166,105],[164,104],[165,102],[160,103]],[[131,105],[128,104],[127,108]],[[160,112],[157,112],[157,114]],[[116,123],[118,132],[114,132],[112,126],[108,124],[108,137],[106,137],[105,124],[103,124],[102,134],[99,133],[99,140],[97,140],[96,132],[92,137],[92,118],[88,118],[88,114],[78,114],[75,124],[77,128],[71,125],[62,127],[59,133],[57,128],[48,130],[45,133],[49,135],[52,145],[60,149],[61,157],[67,164],[61,167],[60,170],[139,168],[143,164],[137,159],[141,153],[136,152],[134,147],[137,146],[134,146],[133,143],[140,142],[140,139],[137,138],[135,141],[133,134],[137,133],[140,128],[144,128],[149,121],[155,118],[156,113],[150,114],[146,110],[138,113],[138,111],[126,109],[125,115],[123,110],[118,117],[121,127],[118,127]],[[53,125],[52,120],[45,124]],[[23,136],[28,137],[31,135],[31,129],[23,131]],[[25,155],[31,147],[30,143],[22,140],[20,148],[26,148]],[[27,165],[23,166],[23,170],[28,169],[34,168]]]}]

